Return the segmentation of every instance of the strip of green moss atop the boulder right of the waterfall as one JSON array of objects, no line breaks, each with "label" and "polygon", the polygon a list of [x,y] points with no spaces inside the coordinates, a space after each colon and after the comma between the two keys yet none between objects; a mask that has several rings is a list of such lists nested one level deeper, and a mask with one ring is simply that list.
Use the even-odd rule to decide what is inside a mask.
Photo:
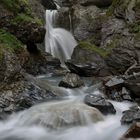
[{"label": "strip of green moss atop the boulder right of the waterfall", "polygon": [[108,55],[109,52],[107,52],[105,49],[99,48],[94,44],[90,44],[89,42],[86,41],[81,41],[78,45],[80,48],[86,49],[86,50],[90,50],[93,51],[97,54],[99,54],[102,57],[105,57]]}]

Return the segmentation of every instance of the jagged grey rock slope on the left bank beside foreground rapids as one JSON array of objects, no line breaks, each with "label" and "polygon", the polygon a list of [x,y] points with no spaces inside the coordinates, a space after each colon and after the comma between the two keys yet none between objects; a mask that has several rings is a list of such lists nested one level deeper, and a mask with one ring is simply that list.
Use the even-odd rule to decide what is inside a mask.
[{"label": "jagged grey rock slope on the left bank beside foreground rapids", "polygon": [[44,100],[58,97],[57,95],[57,93],[51,91],[47,86],[43,88],[34,81],[25,80],[23,74],[22,77],[14,79],[13,82],[1,88],[0,113],[21,111]]}]

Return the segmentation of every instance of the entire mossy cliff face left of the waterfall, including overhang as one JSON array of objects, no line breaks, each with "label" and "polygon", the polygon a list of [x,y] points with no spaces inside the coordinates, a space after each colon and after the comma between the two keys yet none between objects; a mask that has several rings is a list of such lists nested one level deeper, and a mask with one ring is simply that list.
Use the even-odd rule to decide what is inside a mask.
[{"label": "entire mossy cliff face left of the waterfall, including overhang", "polygon": [[1,0],[0,83],[14,81],[36,43],[44,41],[44,9],[38,0]]}]

